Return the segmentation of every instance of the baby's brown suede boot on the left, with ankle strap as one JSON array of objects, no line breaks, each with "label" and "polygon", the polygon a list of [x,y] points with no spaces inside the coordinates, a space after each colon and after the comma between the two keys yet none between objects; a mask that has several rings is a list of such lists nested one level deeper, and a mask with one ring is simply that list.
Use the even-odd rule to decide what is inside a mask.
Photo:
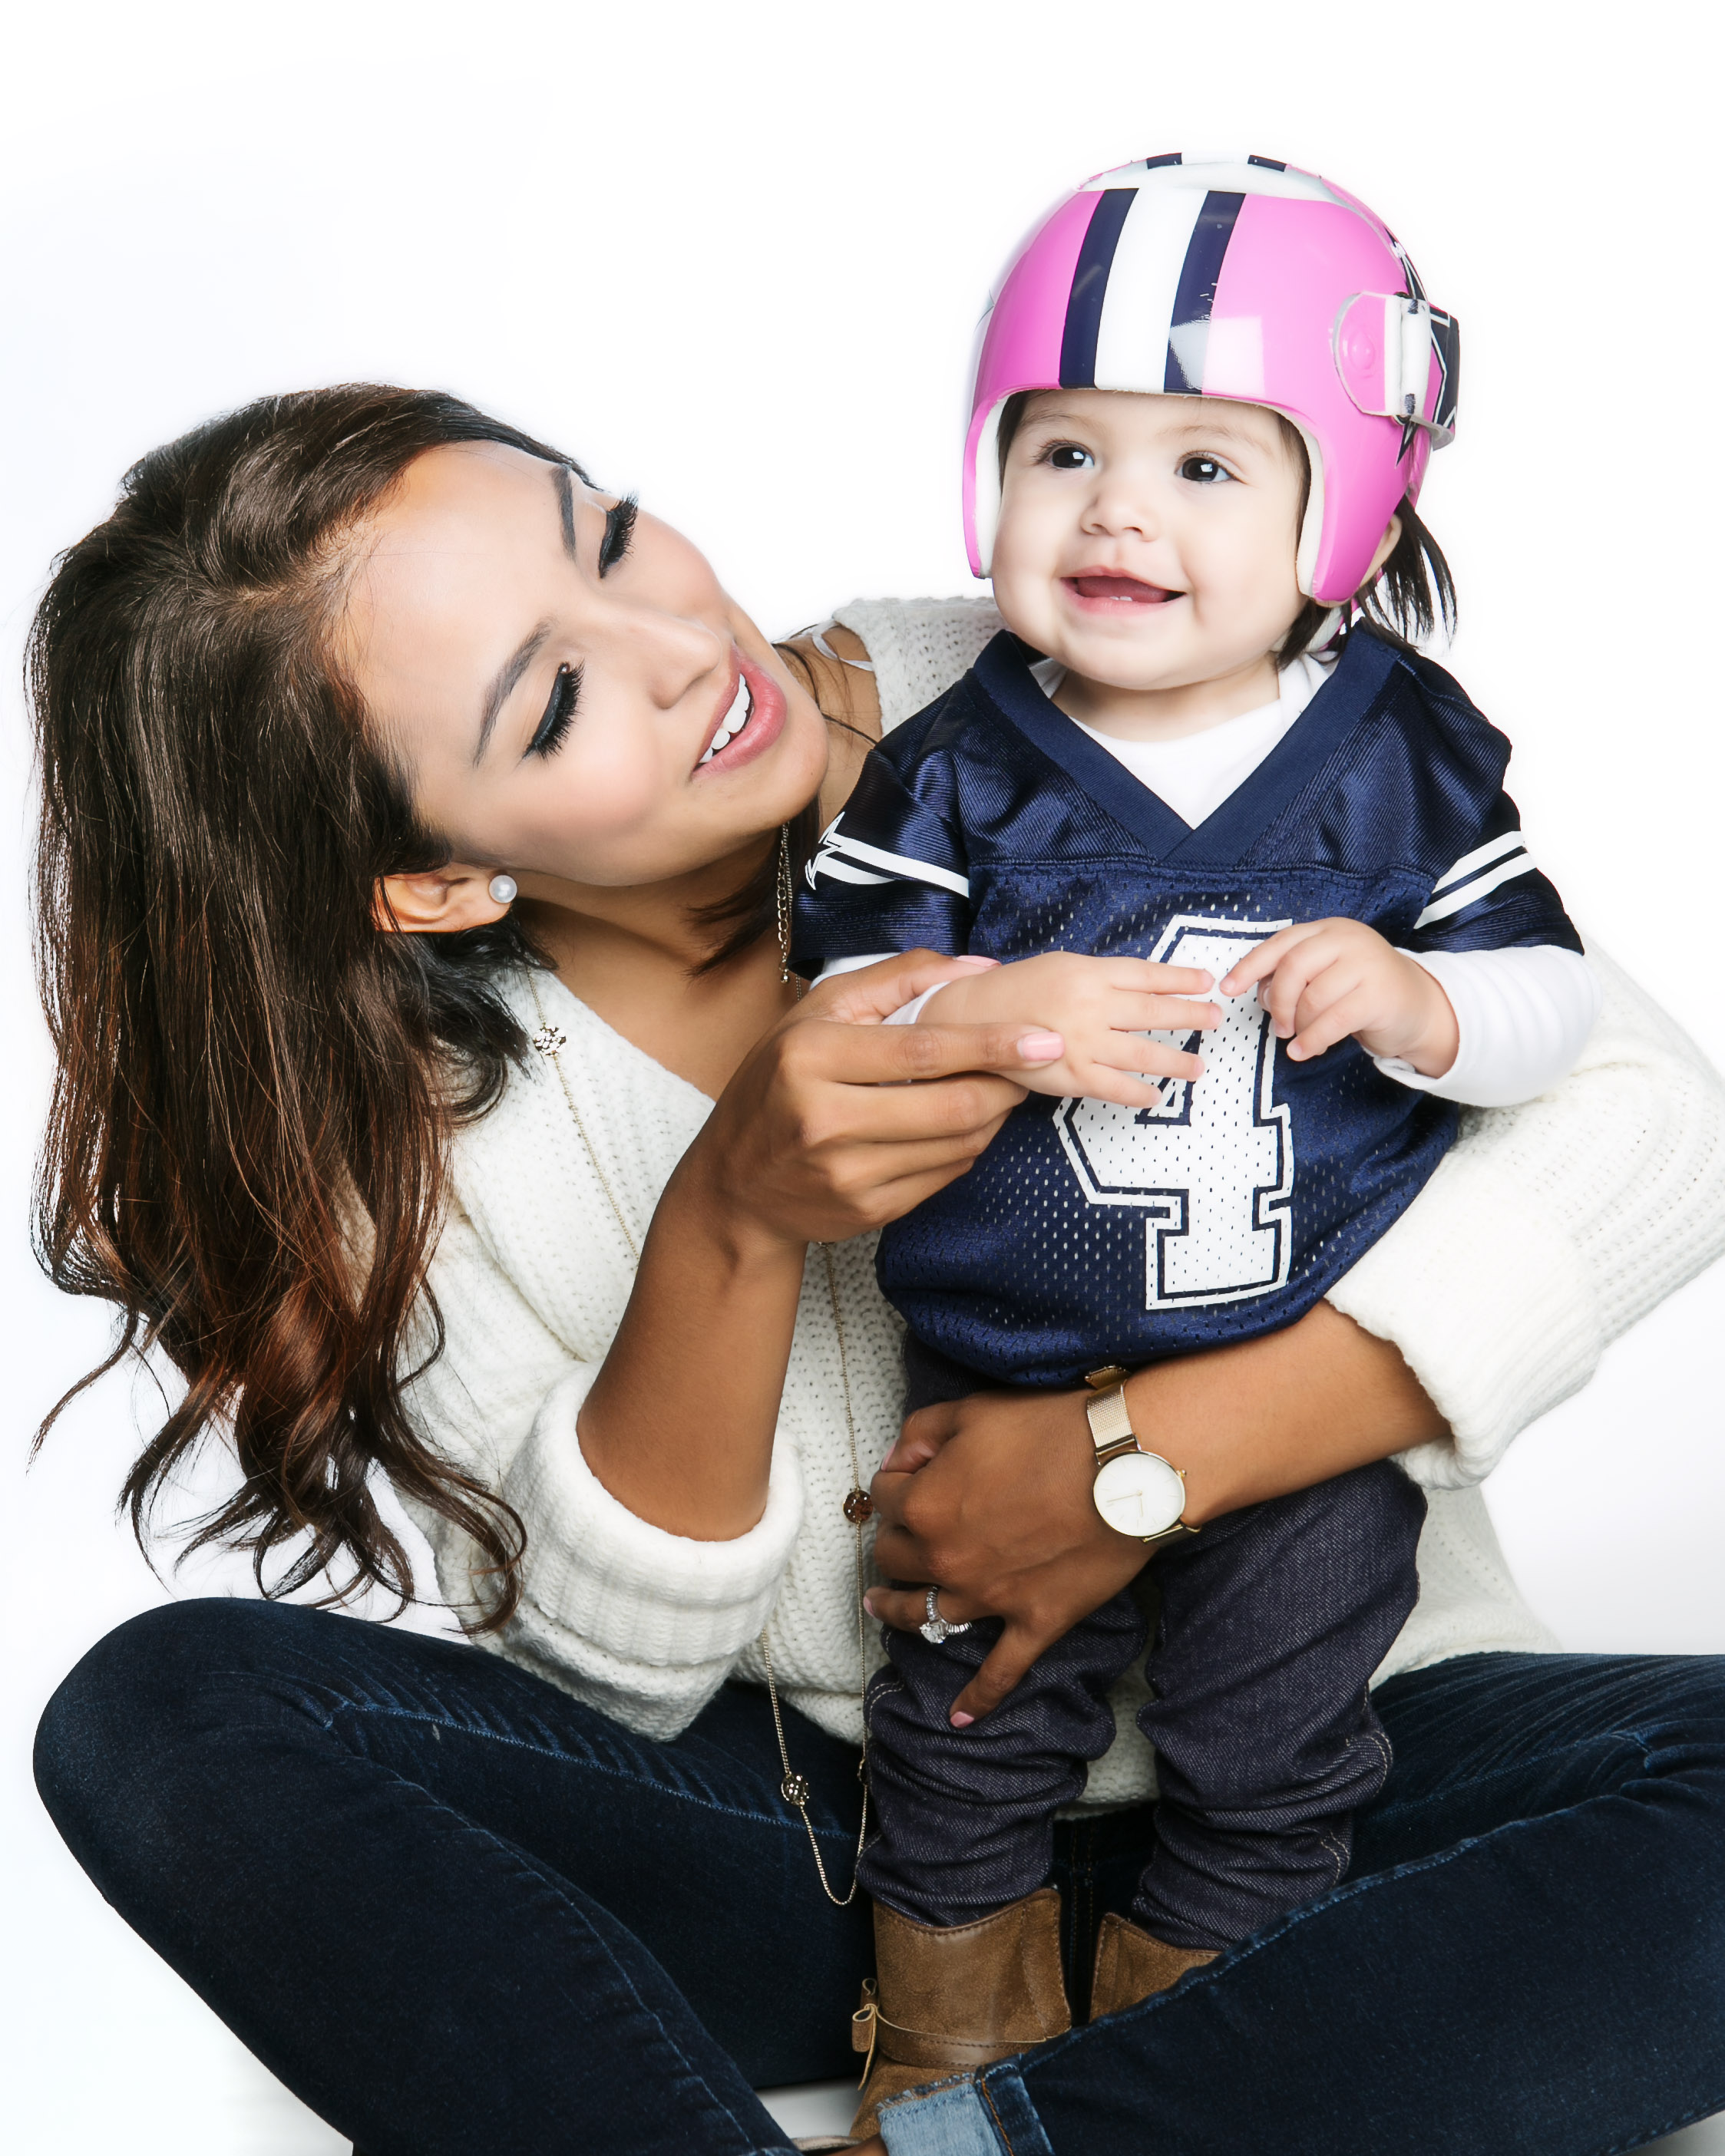
[{"label": "baby's brown suede boot on the left, with ankle strap", "polygon": [[886,2098],[1035,2050],[1070,2027],[1054,1887],[955,1925],[916,1923],[875,1902],[875,1979],[852,2018],[852,2044],[869,2063],[850,2130],[867,2141]]}]

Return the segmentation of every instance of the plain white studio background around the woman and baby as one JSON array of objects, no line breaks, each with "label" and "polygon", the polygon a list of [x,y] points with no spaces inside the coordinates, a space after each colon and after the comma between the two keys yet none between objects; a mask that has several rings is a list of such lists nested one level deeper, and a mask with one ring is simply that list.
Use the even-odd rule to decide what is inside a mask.
[{"label": "plain white studio background around the woman and baby", "polygon": [[[19,17],[0,47],[9,683],[52,552],[132,457],[341,377],[448,386],[567,446],[703,541],[774,632],[852,595],[968,589],[962,373],[1005,250],[1091,170],[1251,149],[1363,194],[1462,317],[1462,433],[1423,505],[1462,589],[1453,666],[1516,740],[1512,787],[1572,912],[1725,1050],[1714,11],[95,0]],[[332,2150],[104,1908],[28,1783],[54,1682],[164,1589],[110,1518],[123,1382],[24,1473],[106,1322],[45,1287],[24,1238],[47,1052],[11,686],[0,740],[0,1850],[19,1904],[0,2132],[56,2156]],[[1570,1645],[1725,1649],[1723,1317],[1719,1272],[1492,1483]]]}]

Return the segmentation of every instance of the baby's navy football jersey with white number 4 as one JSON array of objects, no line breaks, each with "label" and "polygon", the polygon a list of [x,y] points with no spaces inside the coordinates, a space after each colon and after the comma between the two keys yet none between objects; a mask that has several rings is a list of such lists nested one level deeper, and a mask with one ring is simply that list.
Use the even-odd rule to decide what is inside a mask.
[{"label": "baby's navy football jersey with white number 4", "polygon": [[[927,944],[1223,972],[1294,921],[1350,914],[1410,951],[1581,951],[1503,791],[1509,742],[1430,660],[1356,627],[1307,709],[1192,830],[1089,740],[1000,634],[895,729],[809,862],[794,964]],[[1292,1063],[1255,996],[1156,1108],[1033,1093],[968,1175],[880,1240],[927,1345],[988,1378],[1292,1324],[1412,1201],[1455,1108],[1348,1039]],[[1173,1035],[1171,1035],[1173,1037]],[[1173,1037],[1179,1039],[1179,1037]]]}]

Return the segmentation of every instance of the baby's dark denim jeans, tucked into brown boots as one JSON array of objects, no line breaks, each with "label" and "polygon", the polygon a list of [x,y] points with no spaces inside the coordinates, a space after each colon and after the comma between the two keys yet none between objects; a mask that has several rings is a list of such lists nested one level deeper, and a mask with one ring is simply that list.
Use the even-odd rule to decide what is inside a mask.
[{"label": "baby's dark denim jeans, tucked into brown boots", "polygon": [[[919,1360],[912,1406],[940,1397]],[[1115,1740],[1108,1688],[1145,1641],[1138,1727],[1158,1805],[1132,1917],[1175,1947],[1229,1947],[1337,1887],[1354,1813],[1389,1774],[1367,1684],[1414,1606],[1423,1520],[1425,1498],[1386,1460],[1210,1520],[968,1729],[947,1714],[998,1619],[940,1647],[888,1630],[867,1699],[865,1889],[940,1925],[1035,1893],[1054,1813]]]}]

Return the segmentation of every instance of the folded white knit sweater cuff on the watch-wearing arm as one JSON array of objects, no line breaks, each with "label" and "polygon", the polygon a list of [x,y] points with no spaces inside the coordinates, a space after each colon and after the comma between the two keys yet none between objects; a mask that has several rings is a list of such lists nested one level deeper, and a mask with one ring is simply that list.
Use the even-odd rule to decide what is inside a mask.
[{"label": "folded white knit sweater cuff on the watch-wearing arm", "polygon": [[1430,1490],[1484,1481],[1518,1432],[1578,1393],[1604,1326],[1574,1242],[1496,1160],[1443,1158],[1328,1302],[1402,1358],[1449,1440],[1399,1453]]}]

